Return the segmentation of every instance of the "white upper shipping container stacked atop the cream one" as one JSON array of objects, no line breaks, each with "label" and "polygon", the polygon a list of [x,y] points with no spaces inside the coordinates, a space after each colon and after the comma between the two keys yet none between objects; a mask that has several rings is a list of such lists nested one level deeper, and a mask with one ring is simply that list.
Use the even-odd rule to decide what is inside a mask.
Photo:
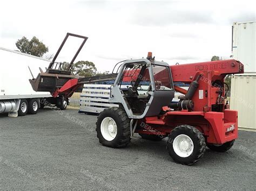
[{"label": "white upper shipping container stacked atop the cream one", "polygon": [[232,54],[245,65],[245,72],[256,72],[256,21],[233,23]]}]

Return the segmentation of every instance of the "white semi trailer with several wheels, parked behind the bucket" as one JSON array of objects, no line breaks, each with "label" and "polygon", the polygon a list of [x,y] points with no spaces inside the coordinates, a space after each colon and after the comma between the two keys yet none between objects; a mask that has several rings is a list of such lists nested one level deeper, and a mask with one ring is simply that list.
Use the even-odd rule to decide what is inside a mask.
[{"label": "white semi trailer with several wheels, parked behind the bucket", "polygon": [[57,103],[50,93],[34,91],[28,80],[38,68],[49,65],[48,59],[0,47],[0,61],[0,113],[10,117],[37,114],[45,103]]}]

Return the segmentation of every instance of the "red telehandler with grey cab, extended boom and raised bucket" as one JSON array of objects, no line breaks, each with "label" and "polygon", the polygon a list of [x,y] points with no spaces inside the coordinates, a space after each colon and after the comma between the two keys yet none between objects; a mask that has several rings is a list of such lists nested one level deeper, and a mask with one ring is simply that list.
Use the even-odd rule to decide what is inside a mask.
[{"label": "red telehandler with grey cab, extended boom and raised bucket", "polygon": [[[58,69],[52,65],[30,82],[34,90],[50,91],[60,100],[68,100],[84,83],[115,79],[109,101],[119,107],[102,111],[96,123],[104,146],[125,147],[134,133],[156,141],[167,137],[173,160],[192,165],[203,157],[206,146],[224,152],[238,138],[238,112],[225,103],[224,82],[228,74],[244,73],[244,65],[237,60],[169,66],[149,53],[146,59],[119,62],[117,72],[100,77],[73,76],[72,65]],[[127,81],[130,85],[123,88]],[[186,90],[177,82],[190,86]],[[145,84],[147,89],[141,93]],[[175,91],[183,94],[178,102],[173,101]]]}]

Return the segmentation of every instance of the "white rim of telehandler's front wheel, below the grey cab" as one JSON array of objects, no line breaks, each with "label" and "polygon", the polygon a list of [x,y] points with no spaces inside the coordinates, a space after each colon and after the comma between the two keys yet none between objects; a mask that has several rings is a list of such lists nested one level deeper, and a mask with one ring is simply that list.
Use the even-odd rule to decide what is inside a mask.
[{"label": "white rim of telehandler's front wheel, below the grey cab", "polygon": [[105,117],[100,124],[100,132],[104,139],[111,141],[117,136],[117,124],[111,117]]}]

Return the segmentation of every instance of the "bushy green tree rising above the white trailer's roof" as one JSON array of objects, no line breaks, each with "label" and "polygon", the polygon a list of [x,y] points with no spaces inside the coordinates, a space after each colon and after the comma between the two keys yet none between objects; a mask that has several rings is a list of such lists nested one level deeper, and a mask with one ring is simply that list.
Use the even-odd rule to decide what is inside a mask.
[{"label": "bushy green tree rising above the white trailer's roof", "polygon": [[31,40],[28,40],[26,37],[22,37],[17,40],[16,46],[19,51],[23,53],[39,57],[42,57],[44,53],[48,52],[48,47],[46,47],[42,41],[39,41],[36,37],[33,37]]}]

